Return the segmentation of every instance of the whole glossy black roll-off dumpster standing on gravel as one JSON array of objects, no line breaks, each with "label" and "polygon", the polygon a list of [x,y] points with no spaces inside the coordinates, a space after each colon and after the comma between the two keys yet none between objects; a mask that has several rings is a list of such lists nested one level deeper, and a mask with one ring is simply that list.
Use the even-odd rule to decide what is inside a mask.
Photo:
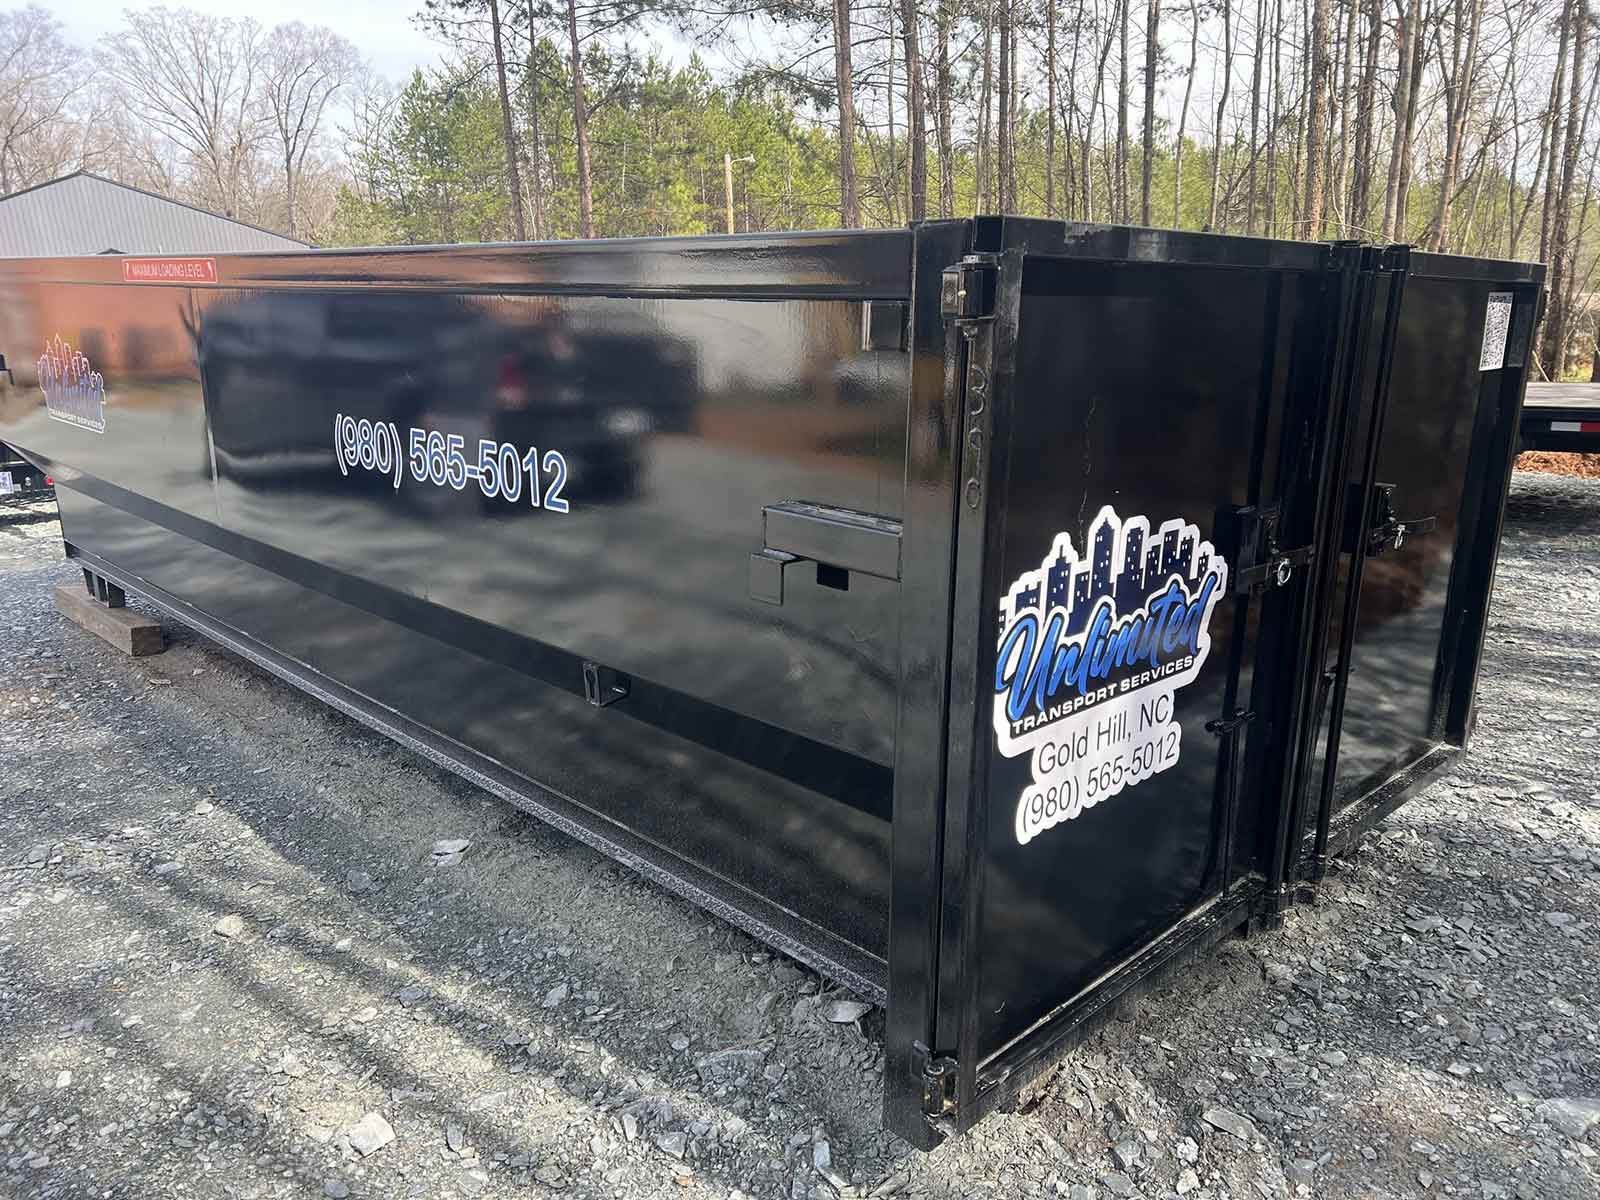
[{"label": "whole glossy black roll-off dumpster standing on gravel", "polygon": [[976,219],[0,262],[67,554],[888,1006],[917,1146],[1474,723],[1542,269]]}]

